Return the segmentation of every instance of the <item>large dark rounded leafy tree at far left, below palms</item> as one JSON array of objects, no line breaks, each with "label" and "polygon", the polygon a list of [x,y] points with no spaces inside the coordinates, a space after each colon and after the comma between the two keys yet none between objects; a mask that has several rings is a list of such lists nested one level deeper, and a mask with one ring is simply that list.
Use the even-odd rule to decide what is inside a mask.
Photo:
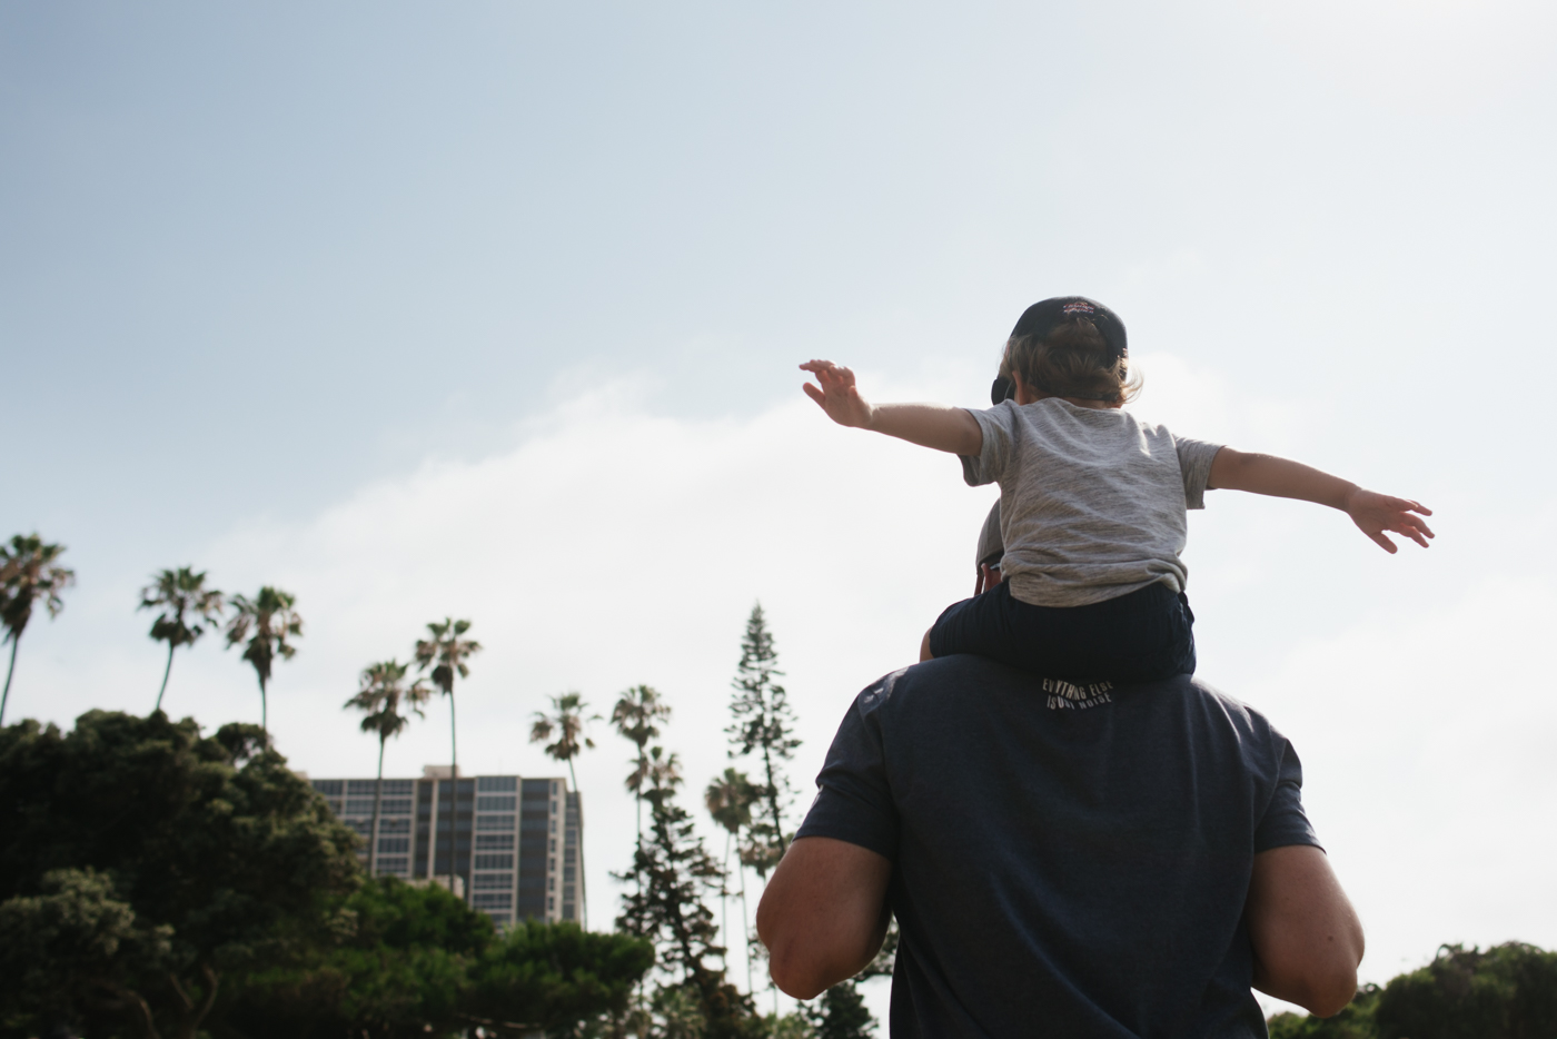
[{"label": "large dark rounded leafy tree at far left, below palms", "polygon": [[165,942],[103,975],[118,994],[83,989],[70,1008],[145,1017],[146,1034],[193,1037],[226,975],[315,941],[358,883],[357,836],[255,726],[202,737],[160,712],[101,710],[70,732],[23,721],[0,731],[0,812],[9,919],[70,899],[78,919],[121,921],[121,944]]}]

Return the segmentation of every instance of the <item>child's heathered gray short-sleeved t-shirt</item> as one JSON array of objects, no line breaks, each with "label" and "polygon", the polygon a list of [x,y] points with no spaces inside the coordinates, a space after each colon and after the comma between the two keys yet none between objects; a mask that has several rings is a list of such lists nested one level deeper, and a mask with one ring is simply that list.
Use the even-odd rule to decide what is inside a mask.
[{"label": "child's heathered gray short-sleeved t-shirt", "polygon": [[970,414],[984,449],[962,456],[962,475],[1000,484],[1000,569],[1015,598],[1087,606],[1157,581],[1185,589],[1185,509],[1205,508],[1221,444],[1060,397]]}]

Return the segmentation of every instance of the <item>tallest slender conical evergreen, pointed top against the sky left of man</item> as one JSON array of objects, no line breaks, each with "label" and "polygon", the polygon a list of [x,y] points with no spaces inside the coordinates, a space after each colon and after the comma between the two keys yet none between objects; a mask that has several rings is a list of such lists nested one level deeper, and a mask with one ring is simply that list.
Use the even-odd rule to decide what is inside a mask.
[{"label": "tallest slender conical evergreen, pointed top against the sky left of man", "polygon": [[730,757],[757,755],[761,760],[761,784],[757,784],[757,808],[752,813],[749,833],[752,843],[743,858],[764,879],[783,858],[789,836],[783,829],[783,812],[794,796],[783,763],[794,759],[800,740],[794,738],[794,712],[789,695],[775,682],[778,651],[763,617],[761,603],[752,606],[746,620],[746,636],[741,639],[741,662],[730,682],[735,695],[730,698],[733,721],[726,732],[730,737]]}]

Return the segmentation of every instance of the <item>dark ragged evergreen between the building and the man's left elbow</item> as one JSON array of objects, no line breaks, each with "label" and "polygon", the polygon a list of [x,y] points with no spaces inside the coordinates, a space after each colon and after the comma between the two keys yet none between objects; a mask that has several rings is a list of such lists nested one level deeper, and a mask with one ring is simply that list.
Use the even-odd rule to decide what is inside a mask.
[{"label": "dark ragged evergreen between the building and the man's left elbow", "polygon": [[[649,804],[649,829],[634,851],[632,871],[615,874],[618,880],[637,880],[638,885],[623,897],[617,927],[652,941],[660,966],[679,975],[676,988],[696,995],[701,1034],[744,1039],[758,1023],[749,998],[726,981],[722,969],[705,963],[708,956],[724,955],[716,942],[713,911],[704,903],[704,896],[722,886],[724,871],[704,849],[691,816],[676,802],[682,782],[676,755],[649,748],[646,779],[643,799]],[[657,1000],[657,1009],[660,1003],[663,1000]],[[677,1019],[685,1014],[677,1013]]]}]

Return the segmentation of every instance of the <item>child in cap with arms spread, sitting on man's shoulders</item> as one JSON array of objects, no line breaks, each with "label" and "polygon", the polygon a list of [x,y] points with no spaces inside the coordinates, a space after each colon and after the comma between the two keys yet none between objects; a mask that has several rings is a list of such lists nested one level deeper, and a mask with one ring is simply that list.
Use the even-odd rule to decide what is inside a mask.
[{"label": "child in cap with arms spread, sitting on man's shoulders", "polygon": [[1194,615],[1179,553],[1185,509],[1232,488],[1347,512],[1381,548],[1394,531],[1428,547],[1417,502],[1364,491],[1272,455],[1174,436],[1121,407],[1135,396],[1124,324],[1060,296],[1017,321],[987,411],[872,405],[855,375],[807,361],[805,393],[841,425],[962,456],[968,484],[1000,483],[1003,579],[947,608],[920,659],[976,653],[1070,682],[1146,682],[1194,673]]}]

